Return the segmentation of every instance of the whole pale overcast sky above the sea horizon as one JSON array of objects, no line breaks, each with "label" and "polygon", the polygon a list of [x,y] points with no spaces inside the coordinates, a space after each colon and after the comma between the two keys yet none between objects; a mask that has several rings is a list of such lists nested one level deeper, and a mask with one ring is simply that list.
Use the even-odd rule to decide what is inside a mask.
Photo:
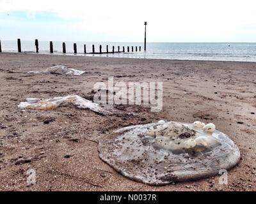
[{"label": "whole pale overcast sky above the sea horizon", "polygon": [[255,0],[0,0],[0,40],[255,42]]}]

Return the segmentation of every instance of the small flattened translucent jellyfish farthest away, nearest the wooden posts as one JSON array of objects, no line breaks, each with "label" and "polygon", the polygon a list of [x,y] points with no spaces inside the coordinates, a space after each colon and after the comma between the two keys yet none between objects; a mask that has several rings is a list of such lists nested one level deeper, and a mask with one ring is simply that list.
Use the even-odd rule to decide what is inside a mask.
[{"label": "small flattened translucent jellyfish farthest away, nearest the wooden posts", "polygon": [[77,69],[67,68],[66,66],[57,65],[57,66],[52,66],[51,68],[47,68],[47,69],[40,69],[38,71],[29,71],[28,73],[80,76],[80,75],[83,75],[83,73],[85,73],[85,71],[80,71]]}]

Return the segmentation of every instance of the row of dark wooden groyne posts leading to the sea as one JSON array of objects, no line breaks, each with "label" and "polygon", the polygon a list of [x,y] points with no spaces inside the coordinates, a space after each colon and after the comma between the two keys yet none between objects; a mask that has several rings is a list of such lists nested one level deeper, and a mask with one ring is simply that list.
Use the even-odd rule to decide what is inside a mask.
[{"label": "row of dark wooden groyne posts leading to the sea", "polygon": [[[18,43],[18,52],[21,52],[21,43],[20,39],[17,40]],[[36,53],[39,52],[39,43],[38,40],[35,40],[35,47],[36,47]],[[63,53],[66,53],[66,43],[62,43],[62,48],[63,48]],[[112,47],[112,52],[109,52],[108,45],[106,46],[106,52],[102,52],[102,45],[99,47],[99,52],[95,52],[95,46],[92,45],[92,52],[86,52],[86,45],[84,45],[84,54],[108,54],[108,53],[118,53],[118,52],[125,52],[125,47],[122,47],[122,50],[120,50],[120,46],[118,46],[118,50],[115,51],[115,46]],[[135,48],[135,49],[134,49]],[[138,52],[141,51],[141,46],[140,47],[133,47],[131,46],[131,52]],[[1,40],[0,40],[0,52],[2,52],[1,48]],[[130,52],[130,47],[127,47],[127,52]],[[50,41],[50,53],[53,53],[53,43]],[[74,43],[74,54],[77,54],[77,45]]]}]

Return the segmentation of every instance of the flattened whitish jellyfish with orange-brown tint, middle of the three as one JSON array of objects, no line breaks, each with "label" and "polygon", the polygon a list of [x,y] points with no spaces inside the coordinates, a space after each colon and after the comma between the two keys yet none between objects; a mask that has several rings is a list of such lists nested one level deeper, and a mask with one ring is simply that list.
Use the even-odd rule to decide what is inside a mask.
[{"label": "flattened whitish jellyfish with orange-brown tint, middle of the three", "polygon": [[26,102],[21,102],[18,106],[21,109],[27,108],[32,110],[53,110],[60,106],[74,105],[80,109],[90,109],[93,112],[102,115],[108,115],[108,111],[101,108],[97,103],[74,94],[65,97],[56,97],[50,99],[27,98]]}]

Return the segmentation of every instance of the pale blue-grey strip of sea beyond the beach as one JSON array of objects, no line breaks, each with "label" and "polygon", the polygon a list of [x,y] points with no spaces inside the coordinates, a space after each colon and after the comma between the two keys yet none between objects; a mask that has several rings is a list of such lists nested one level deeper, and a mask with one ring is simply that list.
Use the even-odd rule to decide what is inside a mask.
[{"label": "pale blue-grey strip of sea beyond the beach", "polygon": [[[53,41],[54,54],[62,54],[62,41]],[[125,57],[140,59],[177,59],[177,60],[202,60],[202,61],[247,61],[256,62],[256,43],[147,43],[147,51],[144,52],[144,43],[132,42],[86,42],[66,41],[66,55],[74,55],[74,43],[77,44],[77,54],[84,56],[101,57]],[[92,45],[95,45],[95,52],[99,52],[102,45],[102,52],[106,52],[106,45],[109,45],[109,52],[115,46],[125,53],[115,54],[84,54],[92,52]],[[17,41],[1,41],[2,52],[17,52]],[[127,47],[130,52],[127,53]],[[134,52],[131,52],[131,47]],[[35,52],[35,41],[21,41],[22,52]],[[138,47],[138,52],[135,52]],[[141,47],[141,52],[139,51]],[[50,54],[49,41],[39,41],[39,53]]]}]

